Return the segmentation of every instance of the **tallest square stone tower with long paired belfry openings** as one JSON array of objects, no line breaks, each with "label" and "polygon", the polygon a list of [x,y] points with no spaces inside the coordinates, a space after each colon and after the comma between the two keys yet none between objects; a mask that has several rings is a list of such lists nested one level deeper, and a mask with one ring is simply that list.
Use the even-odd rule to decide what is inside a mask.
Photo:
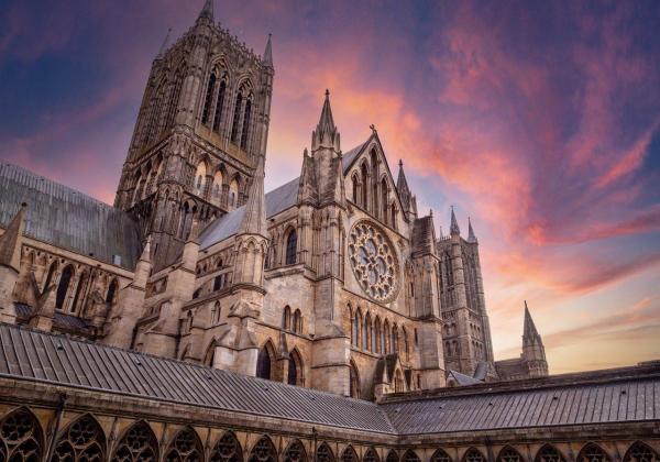
[{"label": "tallest square stone tower with long paired belfry openings", "polygon": [[152,235],[155,271],[180,255],[194,220],[204,227],[245,204],[266,152],[273,76],[271,37],[255,55],[215,23],[212,0],[163,44],[114,200]]}]

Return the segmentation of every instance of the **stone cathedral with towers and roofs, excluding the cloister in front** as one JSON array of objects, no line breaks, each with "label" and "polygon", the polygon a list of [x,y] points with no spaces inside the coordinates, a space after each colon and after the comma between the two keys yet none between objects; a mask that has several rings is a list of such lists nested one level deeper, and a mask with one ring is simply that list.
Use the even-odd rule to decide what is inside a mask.
[{"label": "stone cathedral with towers and roofs, excluding the cloister in front", "polygon": [[113,207],[2,164],[1,320],[364,399],[548,375],[527,307],[494,360],[472,223],[436,230],[373,125],[344,151],[328,91],[264,193],[274,76],[207,2],[153,62]]}]

